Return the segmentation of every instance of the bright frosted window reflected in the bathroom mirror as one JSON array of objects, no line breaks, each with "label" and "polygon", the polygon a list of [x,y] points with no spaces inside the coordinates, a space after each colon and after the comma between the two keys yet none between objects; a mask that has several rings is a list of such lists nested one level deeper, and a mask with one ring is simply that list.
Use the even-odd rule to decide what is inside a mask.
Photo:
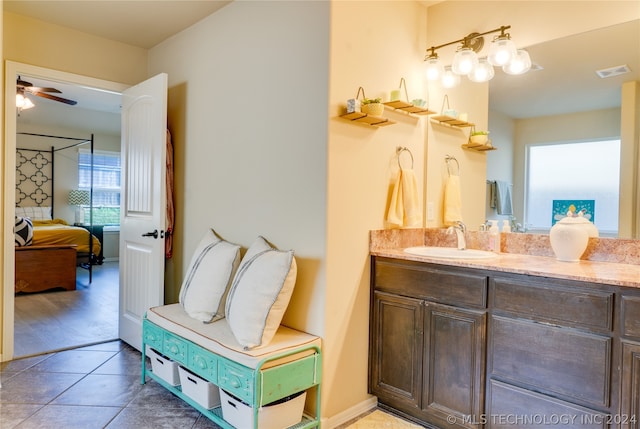
[{"label": "bright frosted window reflected in the bathroom mirror", "polygon": [[525,222],[549,230],[554,201],[594,200],[591,219],[603,235],[618,233],[620,140],[527,147]]}]

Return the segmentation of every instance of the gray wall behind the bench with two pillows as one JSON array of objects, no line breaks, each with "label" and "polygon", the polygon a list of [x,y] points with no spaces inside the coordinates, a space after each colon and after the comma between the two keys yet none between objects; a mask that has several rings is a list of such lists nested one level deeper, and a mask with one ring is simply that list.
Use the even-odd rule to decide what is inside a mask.
[{"label": "gray wall behind the bench with two pillows", "polygon": [[329,6],[233,2],[150,50],[175,149],[167,302],[208,228],[245,248],[263,235],[298,262],[284,323],[325,337]]}]

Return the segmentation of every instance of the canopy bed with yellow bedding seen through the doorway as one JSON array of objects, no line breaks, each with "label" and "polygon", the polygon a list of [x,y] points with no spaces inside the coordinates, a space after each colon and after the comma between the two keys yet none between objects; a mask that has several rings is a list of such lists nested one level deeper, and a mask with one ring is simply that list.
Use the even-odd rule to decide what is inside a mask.
[{"label": "canopy bed with yellow bedding seen through the doorway", "polygon": [[[88,144],[93,168],[93,135],[90,139],[24,132],[16,135],[24,139],[25,144],[33,146],[41,146],[36,145],[35,141],[42,138],[54,139],[64,144],[63,147],[52,146],[51,150],[20,147],[16,150],[16,228],[19,219],[26,219],[31,234],[26,240],[26,236],[19,237],[16,231],[16,292],[75,289],[77,266],[89,271],[91,283],[92,266],[101,262],[98,255],[102,243],[95,235],[90,234],[89,231],[93,231],[92,225],[71,226],[67,221],[55,218],[53,203],[56,199],[53,191],[56,189],[56,153],[67,149],[75,151],[76,147]],[[73,143],[68,144],[69,141]],[[62,156],[70,155],[66,153]],[[88,206],[89,210],[93,209],[92,197]]]}]

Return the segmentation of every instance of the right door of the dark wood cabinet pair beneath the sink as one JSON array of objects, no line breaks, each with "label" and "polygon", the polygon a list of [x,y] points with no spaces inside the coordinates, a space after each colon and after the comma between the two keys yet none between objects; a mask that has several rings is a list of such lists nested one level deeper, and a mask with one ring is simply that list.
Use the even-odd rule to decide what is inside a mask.
[{"label": "right door of the dark wood cabinet pair beneath the sink", "polygon": [[426,303],[423,411],[431,423],[476,427],[484,409],[486,313]]}]

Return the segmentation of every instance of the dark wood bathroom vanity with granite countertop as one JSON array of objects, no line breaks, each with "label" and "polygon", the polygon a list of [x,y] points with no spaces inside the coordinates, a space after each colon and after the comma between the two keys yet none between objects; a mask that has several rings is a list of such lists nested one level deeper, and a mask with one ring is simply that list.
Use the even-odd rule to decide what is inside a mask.
[{"label": "dark wood bathroom vanity with granite countertop", "polygon": [[637,265],[378,248],[371,269],[382,408],[439,428],[640,427]]}]

